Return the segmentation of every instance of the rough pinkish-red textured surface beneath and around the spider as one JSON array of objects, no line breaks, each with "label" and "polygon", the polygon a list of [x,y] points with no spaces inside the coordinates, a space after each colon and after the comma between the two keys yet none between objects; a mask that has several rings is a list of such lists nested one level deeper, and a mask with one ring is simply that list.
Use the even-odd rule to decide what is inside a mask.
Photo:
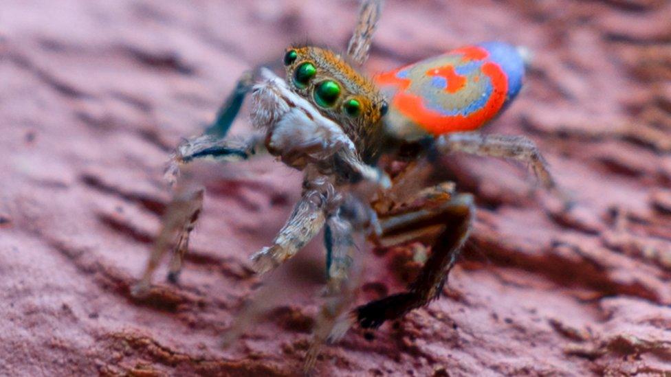
[{"label": "rough pinkish-red textured surface beneath and around the spider", "polygon": [[[270,277],[267,320],[230,349],[218,341],[259,286],[248,255],[281,226],[298,172],[270,159],[199,165],[208,194],[181,286],[159,271],[138,302],[129,285],[169,197],[170,148],[212,119],[244,69],[292,41],[344,45],[355,8],[2,1],[1,375],[296,373],[319,242]],[[373,340],[350,332],[319,372],[671,374],[670,19],[664,0],[388,1],[371,71],[490,39],[533,50],[525,91],[490,130],[537,141],[577,207],[530,195],[520,166],[446,161],[479,203],[447,295]],[[402,286],[402,254],[362,252],[366,295]]]}]

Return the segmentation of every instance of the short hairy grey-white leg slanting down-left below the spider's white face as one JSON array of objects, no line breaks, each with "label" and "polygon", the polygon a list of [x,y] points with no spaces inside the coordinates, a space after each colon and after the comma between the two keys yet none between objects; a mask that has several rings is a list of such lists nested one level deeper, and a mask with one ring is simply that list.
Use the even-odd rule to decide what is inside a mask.
[{"label": "short hairy grey-white leg slanting down-left below the spider's white face", "polygon": [[[308,174],[309,175],[309,174]],[[266,273],[292,258],[322,229],[327,214],[338,208],[341,197],[324,176],[307,179],[303,196],[270,247],[252,254],[252,268]]]}]

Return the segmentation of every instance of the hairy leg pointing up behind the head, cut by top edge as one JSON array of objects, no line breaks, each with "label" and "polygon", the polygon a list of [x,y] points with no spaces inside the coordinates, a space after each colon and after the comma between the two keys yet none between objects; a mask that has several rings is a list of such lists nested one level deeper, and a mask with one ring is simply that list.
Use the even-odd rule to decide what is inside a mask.
[{"label": "hairy leg pointing up behind the head, cut by top edge", "polygon": [[384,3],[383,0],[362,1],[357,25],[347,47],[347,55],[360,65],[364,64],[368,58],[377,21],[380,20],[382,14],[382,3]]}]

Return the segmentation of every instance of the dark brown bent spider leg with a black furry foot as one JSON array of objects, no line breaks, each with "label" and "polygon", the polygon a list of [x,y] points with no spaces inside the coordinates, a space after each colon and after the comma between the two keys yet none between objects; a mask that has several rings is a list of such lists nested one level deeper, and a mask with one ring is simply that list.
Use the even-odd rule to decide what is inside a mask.
[{"label": "dark brown bent spider leg with a black furry foot", "polygon": [[[384,321],[402,317],[410,310],[425,306],[438,297],[448,273],[468,237],[475,213],[470,194],[445,198],[445,185],[437,186],[440,202],[421,205],[380,217],[381,244],[434,239],[431,255],[408,290],[371,301],[353,311],[353,320],[363,328],[377,328]],[[443,196],[443,198],[440,198]]]}]

